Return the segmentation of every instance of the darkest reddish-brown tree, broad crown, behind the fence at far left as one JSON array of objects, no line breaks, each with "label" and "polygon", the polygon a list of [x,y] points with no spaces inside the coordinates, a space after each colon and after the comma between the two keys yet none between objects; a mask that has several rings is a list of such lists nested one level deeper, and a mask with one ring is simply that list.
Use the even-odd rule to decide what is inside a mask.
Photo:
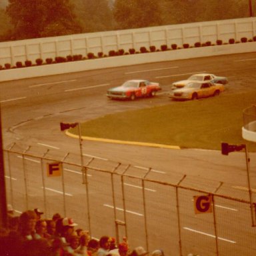
[{"label": "darkest reddish-brown tree, broad crown, behind the fence at far left", "polygon": [[9,0],[7,14],[17,39],[79,33],[81,27],[69,0]]}]

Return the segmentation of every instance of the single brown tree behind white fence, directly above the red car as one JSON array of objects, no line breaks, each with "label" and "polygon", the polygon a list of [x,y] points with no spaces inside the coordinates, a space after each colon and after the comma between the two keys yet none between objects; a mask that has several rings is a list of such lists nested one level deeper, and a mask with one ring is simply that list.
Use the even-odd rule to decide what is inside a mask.
[{"label": "single brown tree behind white fence, directly above the red car", "polygon": [[159,2],[155,0],[115,0],[113,14],[120,29],[162,24]]}]

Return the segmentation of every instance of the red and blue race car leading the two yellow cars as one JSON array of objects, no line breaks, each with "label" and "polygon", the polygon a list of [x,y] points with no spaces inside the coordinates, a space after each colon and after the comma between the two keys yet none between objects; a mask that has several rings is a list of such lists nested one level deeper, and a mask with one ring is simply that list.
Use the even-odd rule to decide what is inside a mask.
[{"label": "red and blue race car leading the two yellow cars", "polygon": [[121,86],[108,89],[107,97],[109,99],[131,99],[133,101],[139,97],[153,97],[160,90],[159,83],[147,80],[128,80]]}]

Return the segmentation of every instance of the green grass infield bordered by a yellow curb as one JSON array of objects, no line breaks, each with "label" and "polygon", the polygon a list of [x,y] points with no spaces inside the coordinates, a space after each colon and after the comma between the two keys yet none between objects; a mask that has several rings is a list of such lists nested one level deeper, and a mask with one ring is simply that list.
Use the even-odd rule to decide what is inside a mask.
[{"label": "green grass infield bordered by a yellow curb", "polygon": [[256,91],[223,93],[208,99],[105,115],[81,124],[81,133],[199,149],[221,149],[221,142],[246,143],[250,151],[256,151],[255,143],[245,141],[241,134],[243,110],[255,104],[255,99]]}]

